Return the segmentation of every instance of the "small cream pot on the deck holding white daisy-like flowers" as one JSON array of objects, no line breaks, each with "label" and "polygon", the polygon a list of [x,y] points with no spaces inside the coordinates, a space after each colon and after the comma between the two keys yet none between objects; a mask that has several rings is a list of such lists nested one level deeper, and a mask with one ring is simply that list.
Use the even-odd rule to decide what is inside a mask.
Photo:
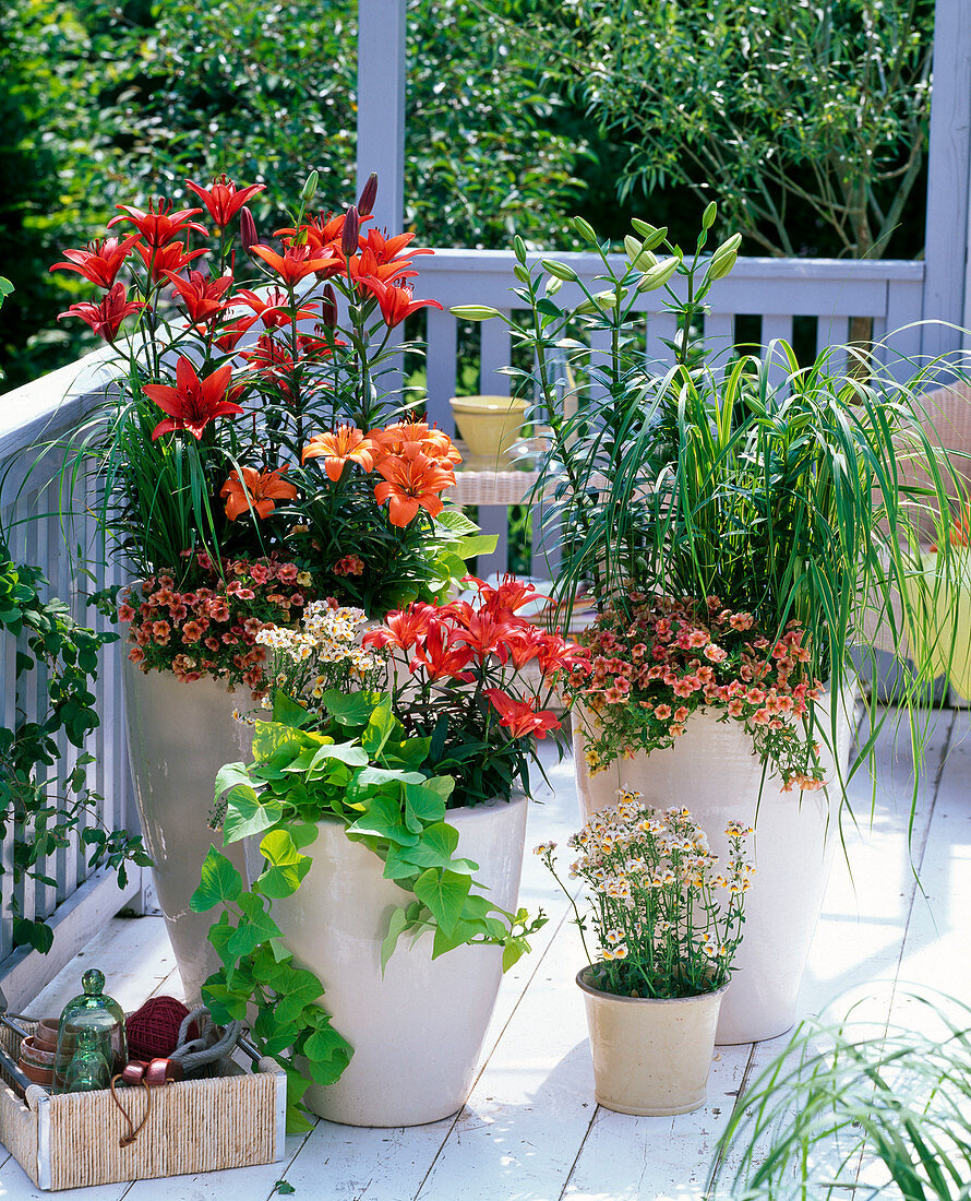
[{"label": "small cream pot on the deck holding white daisy-like flowers", "polygon": [[576,975],[587,1005],[594,1094],[617,1113],[665,1117],[705,1104],[721,998],[729,987],[699,997],[618,997],[593,984],[593,968]]}]

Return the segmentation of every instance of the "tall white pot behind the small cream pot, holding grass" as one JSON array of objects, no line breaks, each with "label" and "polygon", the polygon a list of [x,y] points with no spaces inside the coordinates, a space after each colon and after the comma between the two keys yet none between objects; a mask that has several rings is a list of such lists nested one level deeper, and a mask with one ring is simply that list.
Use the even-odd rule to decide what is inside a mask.
[{"label": "tall white pot behind the small cream pot, holding grass", "polygon": [[[828,694],[817,722],[832,742]],[[684,805],[708,835],[712,850],[727,855],[732,819],[755,829],[747,839],[755,876],[745,897],[742,945],[718,1021],[717,1041],[753,1042],[784,1034],[796,1018],[805,960],[839,841],[837,812],[852,741],[852,694],[838,706],[835,755],[820,737],[827,787],[784,793],[778,776],[762,778],[751,739],[737,722],[718,722],[700,710],[669,751],[621,759],[589,775],[580,721],[574,753],[581,817],[616,803],[617,789],[643,793],[655,808]],[[837,760],[840,770],[837,771]]]}]

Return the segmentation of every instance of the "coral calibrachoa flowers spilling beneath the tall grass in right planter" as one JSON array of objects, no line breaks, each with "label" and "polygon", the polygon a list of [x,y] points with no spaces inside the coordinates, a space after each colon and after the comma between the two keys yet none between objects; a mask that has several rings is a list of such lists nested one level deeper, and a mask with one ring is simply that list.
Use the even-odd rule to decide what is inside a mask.
[{"label": "coral calibrachoa flowers spilling beneath the tall grass in right planter", "polygon": [[714,596],[699,603],[631,593],[624,609],[606,609],[580,635],[583,661],[563,685],[568,699],[593,715],[591,771],[673,746],[705,706],[744,725],[784,788],[820,788],[819,747],[802,719],[822,685],[808,674],[803,638],[797,621],[769,637],[753,614],[726,609]]}]

